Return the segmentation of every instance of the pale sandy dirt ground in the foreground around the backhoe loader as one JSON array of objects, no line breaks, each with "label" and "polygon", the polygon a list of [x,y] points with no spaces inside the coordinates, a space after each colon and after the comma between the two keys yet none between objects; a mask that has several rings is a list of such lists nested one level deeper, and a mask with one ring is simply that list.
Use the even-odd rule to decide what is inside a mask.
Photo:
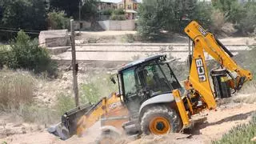
[{"label": "pale sandy dirt ground in the foreground around the backhoe loader", "polygon": [[[246,103],[229,103],[220,106],[217,111],[207,111],[207,122],[194,126],[193,136],[185,139],[175,139],[170,134],[165,137],[146,136],[138,139],[130,144],[141,143],[210,143],[214,139],[222,137],[233,126],[238,126],[250,120],[250,115],[256,111],[256,104]],[[28,132],[27,134],[15,134],[7,138],[3,138],[0,142],[7,143],[26,143],[26,144],[66,144],[66,143],[91,143],[100,133],[98,130],[99,123],[86,132],[84,138],[73,137],[67,141],[61,141],[53,135],[48,134],[46,130]],[[126,141],[125,143],[128,143]]]}]

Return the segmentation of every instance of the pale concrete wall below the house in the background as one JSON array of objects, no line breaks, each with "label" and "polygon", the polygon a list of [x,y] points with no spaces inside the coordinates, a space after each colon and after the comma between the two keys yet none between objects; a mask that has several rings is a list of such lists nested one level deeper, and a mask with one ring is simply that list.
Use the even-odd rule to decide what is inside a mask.
[{"label": "pale concrete wall below the house in the background", "polygon": [[126,20],[126,21],[98,21],[98,24],[102,26],[103,30],[134,30],[135,21]]}]

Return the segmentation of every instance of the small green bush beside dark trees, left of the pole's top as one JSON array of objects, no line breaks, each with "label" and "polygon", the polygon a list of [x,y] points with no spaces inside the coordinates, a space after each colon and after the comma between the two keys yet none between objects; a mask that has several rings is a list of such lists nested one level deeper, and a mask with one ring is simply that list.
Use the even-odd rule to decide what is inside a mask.
[{"label": "small green bush beside dark trees, left of the pole's top", "polygon": [[66,18],[64,11],[53,11],[48,13],[48,26],[53,30],[69,29],[70,18]]}]

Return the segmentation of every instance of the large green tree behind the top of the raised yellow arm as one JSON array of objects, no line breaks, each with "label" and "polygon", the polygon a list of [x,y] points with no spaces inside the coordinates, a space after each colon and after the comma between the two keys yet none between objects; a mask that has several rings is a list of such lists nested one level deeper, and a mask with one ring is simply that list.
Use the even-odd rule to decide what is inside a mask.
[{"label": "large green tree behind the top of the raised yellow arm", "polygon": [[142,38],[156,39],[161,30],[182,32],[190,19],[209,26],[211,7],[196,0],[146,0],[138,6],[138,34]]}]

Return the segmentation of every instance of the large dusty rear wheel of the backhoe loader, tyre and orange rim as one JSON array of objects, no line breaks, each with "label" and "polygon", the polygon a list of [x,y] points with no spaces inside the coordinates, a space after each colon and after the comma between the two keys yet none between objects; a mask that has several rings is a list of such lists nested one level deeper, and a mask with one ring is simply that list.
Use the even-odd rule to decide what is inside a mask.
[{"label": "large dusty rear wheel of the backhoe loader, tyre and orange rim", "polygon": [[141,121],[142,133],[162,135],[181,130],[181,119],[175,110],[167,106],[152,106],[146,110]]}]

